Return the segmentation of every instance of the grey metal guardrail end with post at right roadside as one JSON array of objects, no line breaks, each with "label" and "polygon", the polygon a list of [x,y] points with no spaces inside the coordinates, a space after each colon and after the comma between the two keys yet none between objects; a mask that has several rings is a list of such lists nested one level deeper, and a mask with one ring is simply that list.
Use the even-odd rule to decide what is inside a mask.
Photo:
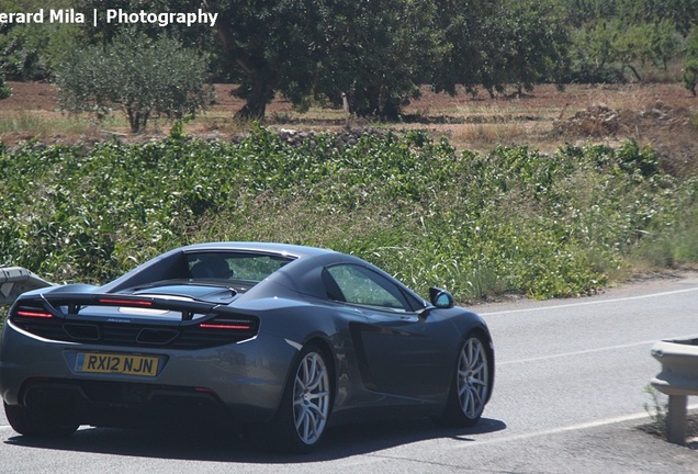
[{"label": "grey metal guardrail end with post at right roadside", "polygon": [[698,395],[698,338],[658,341],[651,353],[662,364],[651,384],[668,395],[666,439],[685,444],[688,396]]}]

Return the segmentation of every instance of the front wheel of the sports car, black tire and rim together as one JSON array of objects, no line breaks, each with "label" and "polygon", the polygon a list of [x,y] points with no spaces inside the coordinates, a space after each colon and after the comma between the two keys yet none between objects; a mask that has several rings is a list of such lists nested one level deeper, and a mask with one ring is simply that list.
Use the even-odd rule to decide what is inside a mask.
[{"label": "front wheel of the sports car, black tire and rim together", "polygon": [[471,427],[480,421],[492,391],[492,357],[487,341],[471,332],[461,343],[442,426]]}]

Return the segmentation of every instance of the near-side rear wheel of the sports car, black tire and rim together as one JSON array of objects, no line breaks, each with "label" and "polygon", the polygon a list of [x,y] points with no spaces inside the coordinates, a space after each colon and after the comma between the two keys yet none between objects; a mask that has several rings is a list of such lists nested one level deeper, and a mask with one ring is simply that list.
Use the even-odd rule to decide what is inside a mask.
[{"label": "near-side rear wheel of the sports car, black tire and rim together", "polygon": [[268,429],[272,449],[311,452],[322,440],[333,404],[333,371],[317,345],[303,348],[291,368],[279,410]]}]

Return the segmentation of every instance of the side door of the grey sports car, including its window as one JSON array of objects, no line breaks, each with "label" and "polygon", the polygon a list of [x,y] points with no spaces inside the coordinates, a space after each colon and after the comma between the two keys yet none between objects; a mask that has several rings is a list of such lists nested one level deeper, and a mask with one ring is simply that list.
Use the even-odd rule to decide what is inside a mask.
[{"label": "side door of the grey sports car, including its window", "polygon": [[429,398],[444,384],[448,356],[432,319],[423,318],[410,294],[358,264],[326,269],[330,298],[352,305],[368,323],[351,324],[360,372],[369,390]]}]

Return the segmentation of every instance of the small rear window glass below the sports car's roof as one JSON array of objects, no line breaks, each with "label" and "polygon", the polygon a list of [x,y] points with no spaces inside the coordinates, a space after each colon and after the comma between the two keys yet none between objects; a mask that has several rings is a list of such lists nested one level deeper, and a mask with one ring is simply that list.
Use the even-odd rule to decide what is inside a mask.
[{"label": "small rear window glass below the sports car's roof", "polygon": [[293,261],[292,258],[255,252],[201,252],[187,256],[192,280],[227,280],[257,283]]}]

